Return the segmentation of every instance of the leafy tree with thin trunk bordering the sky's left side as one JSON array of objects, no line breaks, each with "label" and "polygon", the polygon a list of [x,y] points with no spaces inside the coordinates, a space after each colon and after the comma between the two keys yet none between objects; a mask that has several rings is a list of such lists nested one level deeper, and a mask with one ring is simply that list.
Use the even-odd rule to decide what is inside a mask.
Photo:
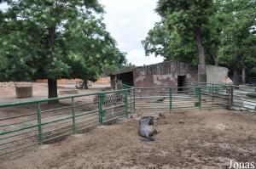
[{"label": "leafy tree with thin trunk bordering the sky's left side", "polygon": [[72,21],[64,37],[66,61],[72,68],[70,76],[83,79],[84,88],[88,88],[88,80],[96,81],[105,65],[119,66],[125,62],[125,54],[116,47],[102,19]]}]

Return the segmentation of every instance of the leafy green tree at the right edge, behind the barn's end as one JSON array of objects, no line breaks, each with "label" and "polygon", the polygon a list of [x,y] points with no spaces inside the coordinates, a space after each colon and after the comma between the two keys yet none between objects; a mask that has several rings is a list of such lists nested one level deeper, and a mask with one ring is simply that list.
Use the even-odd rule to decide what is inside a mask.
[{"label": "leafy green tree at the right edge, behind the barn's end", "polygon": [[239,71],[256,69],[256,2],[226,0],[219,5],[225,26],[219,35],[218,60],[233,70],[233,82],[237,85]]}]

